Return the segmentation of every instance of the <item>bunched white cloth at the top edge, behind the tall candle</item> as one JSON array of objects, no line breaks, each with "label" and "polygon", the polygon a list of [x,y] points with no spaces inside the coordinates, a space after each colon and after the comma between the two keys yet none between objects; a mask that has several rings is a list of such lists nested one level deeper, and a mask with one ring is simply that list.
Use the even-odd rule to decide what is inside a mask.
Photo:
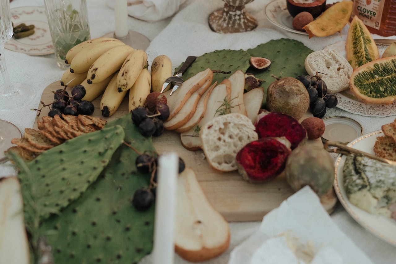
[{"label": "bunched white cloth at the top edge, behind the tall candle", "polygon": [[[147,22],[166,19],[176,13],[186,0],[128,0],[128,15]],[[114,8],[114,0],[107,5]]]}]

